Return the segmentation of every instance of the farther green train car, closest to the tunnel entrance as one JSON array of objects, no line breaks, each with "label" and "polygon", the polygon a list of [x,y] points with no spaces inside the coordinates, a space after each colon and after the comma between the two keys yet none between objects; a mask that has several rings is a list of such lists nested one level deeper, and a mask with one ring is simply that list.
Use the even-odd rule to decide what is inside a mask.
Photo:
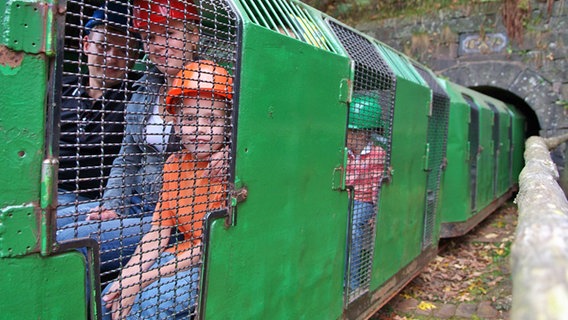
[{"label": "farther green train car, closest to the tunnel entrance", "polygon": [[441,237],[456,237],[518,189],[526,131],[524,118],[517,118],[522,115],[511,105],[447,81],[445,86],[452,106],[438,205]]}]

